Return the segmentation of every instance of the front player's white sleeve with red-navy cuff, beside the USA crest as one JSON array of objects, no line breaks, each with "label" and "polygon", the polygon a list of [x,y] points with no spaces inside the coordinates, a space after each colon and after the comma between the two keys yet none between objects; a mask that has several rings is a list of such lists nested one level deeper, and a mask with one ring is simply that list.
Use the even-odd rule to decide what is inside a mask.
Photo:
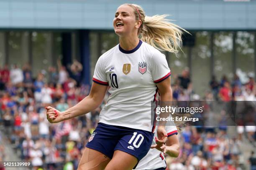
[{"label": "front player's white sleeve with red-navy cuff, beside the USA crest", "polygon": [[165,55],[159,51],[153,53],[150,61],[151,74],[155,83],[164,81],[171,75]]}]

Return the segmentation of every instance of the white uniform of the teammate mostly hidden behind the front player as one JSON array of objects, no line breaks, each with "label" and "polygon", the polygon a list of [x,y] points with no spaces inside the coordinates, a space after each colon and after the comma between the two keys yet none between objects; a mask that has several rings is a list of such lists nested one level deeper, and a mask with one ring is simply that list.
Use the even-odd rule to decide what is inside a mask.
[{"label": "white uniform of the teammate mostly hidden behind the front player", "polygon": [[[169,136],[178,134],[176,126],[165,126],[166,133]],[[157,134],[154,134],[157,138]],[[156,140],[154,138],[152,145],[156,144]],[[164,158],[164,153],[157,149],[150,149],[147,155],[140,160],[138,165],[136,166],[136,170],[155,170],[158,168],[166,168],[166,162]]]}]

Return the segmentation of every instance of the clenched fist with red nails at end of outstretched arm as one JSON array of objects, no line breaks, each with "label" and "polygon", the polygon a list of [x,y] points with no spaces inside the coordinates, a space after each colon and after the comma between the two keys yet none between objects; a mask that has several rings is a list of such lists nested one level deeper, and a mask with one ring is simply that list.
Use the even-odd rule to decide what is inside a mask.
[{"label": "clenched fist with red nails at end of outstretched arm", "polygon": [[50,123],[58,123],[64,120],[64,117],[61,114],[61,112],[59,110],[56,110],[54,107],[47,106],[45,107],[45,109],[47,120]]}]

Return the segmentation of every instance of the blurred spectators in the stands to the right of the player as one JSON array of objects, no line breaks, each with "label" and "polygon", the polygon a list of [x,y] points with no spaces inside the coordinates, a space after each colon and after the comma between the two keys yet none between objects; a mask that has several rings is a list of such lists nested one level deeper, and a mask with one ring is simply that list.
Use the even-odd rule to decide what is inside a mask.
[{"label": "blurred spectators in the stands to the right of the player", "polygon": [[[228,125],[225,118],[226,110],[219,108],[220,112],[215,114],[220,116],[219,122],[212,123],[212,116],[208,117],[211,126],[186,126],[179,135],[181,153],[178,158],[170,158],[166,156],[166,162],[169,170],[239,170],[245,169],[249,164],[251,170],[256,169],[256,155],[253,150],[256,148],[256,83],[253,77],[248,77],[248,82],[242,84],[239,77],[235,75],[232,82],[223,75],[223,78],[216,80],[215,76],[209,82],[209,90],[204,96],[199,96],[193,91],[192,82],[189,78],[189,70],[182,71],[177,76],[172,85],[173,99],[177,101],[197,101],[203,100],[204,114],[209,113],[208,109],[212,104],[222,107],[223,103],[232,101],[251,101],[254,102],[252,111],[248,115],[243,112],[244,117],[248,117],[249,121],[239,121],[243,117],[236,117],[236,134],[228,135]],[[214,102],[207,102],[214,101]],[[242,102],[232,105],[251,107]],[[208,108],[208,109],[207,109]],[[236,110],[238,112],[239,109]],[[240,111],[243,111],[240,109]],[[214,113],[214,112],[213,112]],[[207,115],[209,116],[209,115]],[[229,117],[228,117],[229,118]],[[224,123],[223,123],[223,120]],[[207,122],[207,120],[206,120]],[[216,126],[212,126],[218,125]],[[253,150],[249,152],[249,159],[246,160],[244,153],[245,141],[251,144]],[[247,143],[247,144],[248,144]]]}]

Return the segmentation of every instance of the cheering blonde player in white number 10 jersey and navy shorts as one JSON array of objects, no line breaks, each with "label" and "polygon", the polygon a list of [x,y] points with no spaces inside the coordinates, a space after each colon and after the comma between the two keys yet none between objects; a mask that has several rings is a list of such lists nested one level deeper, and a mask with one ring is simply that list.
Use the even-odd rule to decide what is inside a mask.
[{"label": "cheering blonde player in white number 10 jersey and navy shorts", "polygon": [[[51,123],[84,115],[101,104],[110,86],[111,95],[100,112],[79,170],[131,170],[148,153],[156,122],[151,123],[151,101],[158,90],[162,101],[172,100],[170,70],[157,49],[178,52],[182,35],[181,28],[165,17],[147,17],[138,5],[118,7],[113,27],[120,43],[97,61],[90,94],[64,112],[46,107]],[[158,143],[165,143],[164,124],[157,128],[157,134]]]}]

